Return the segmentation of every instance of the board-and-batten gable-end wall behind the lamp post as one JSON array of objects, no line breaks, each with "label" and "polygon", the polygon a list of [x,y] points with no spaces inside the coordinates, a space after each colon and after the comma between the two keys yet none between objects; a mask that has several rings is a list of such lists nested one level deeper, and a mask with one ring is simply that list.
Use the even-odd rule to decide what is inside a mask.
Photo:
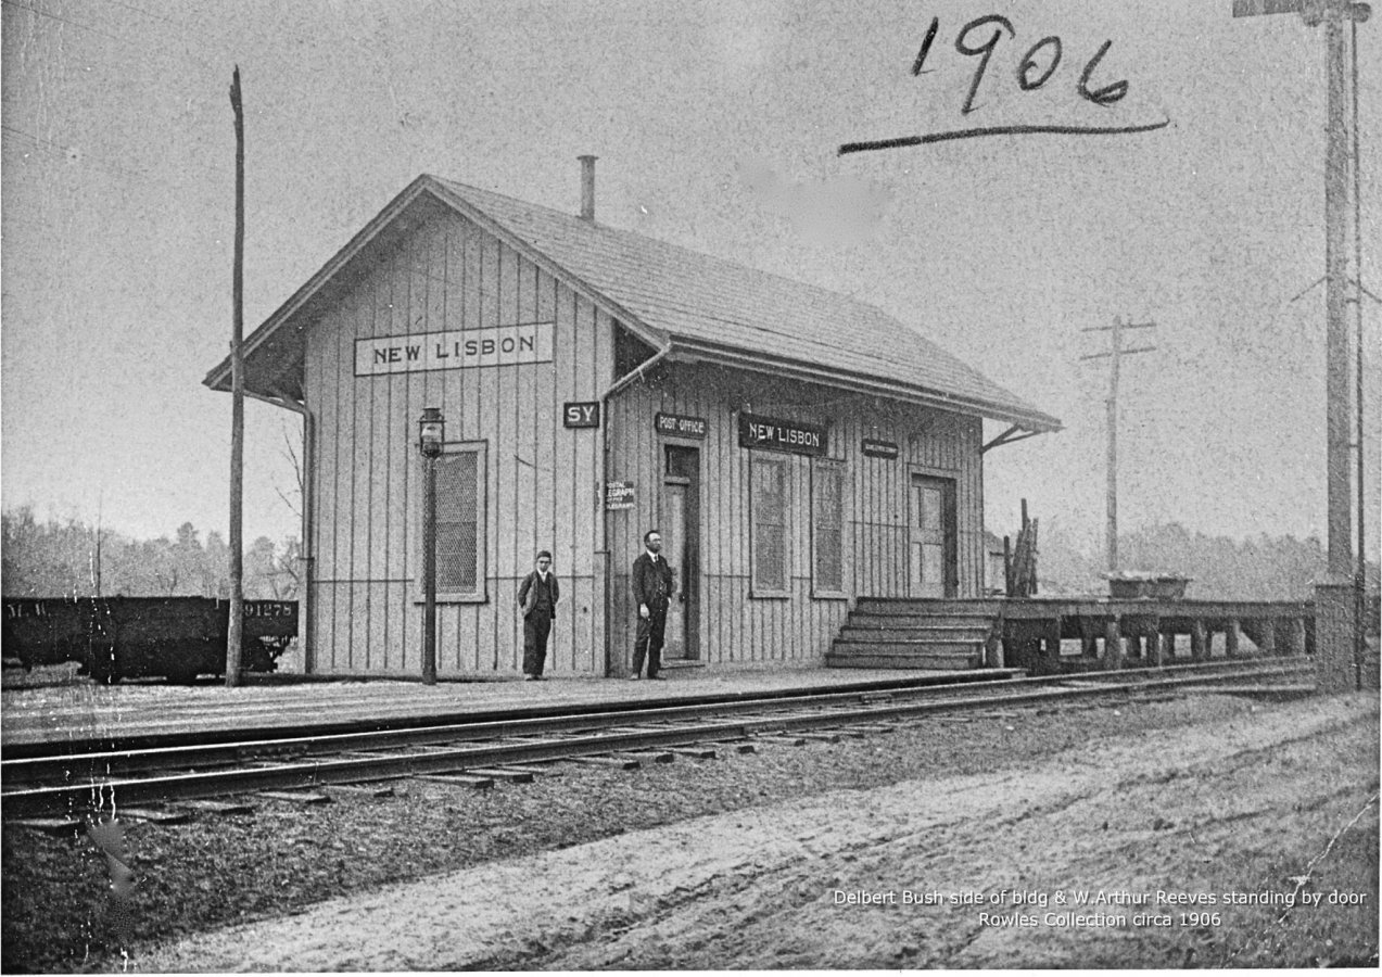
[{"label": "board-and-batten gable-end wall behind the lamp post", "polygon": [[[362,263],[359,263],[362,264]],[[603,674],[596,586],[598,438],[562,427],[567,401],[608,388],[612,325],[587,298],[493,235],[439,214],[351,265],[350,287],[308,329],[305,391],[316,417],[314,670],[422,673],[422,457],[417,419],[446,417],[446,444],[482,444],[484,583],[438,603],[438,673],[521,669],[518,583],[553,553],[562,600],[547,670]],[[355,340],[553,322],[553,361],[355,376]]]}]

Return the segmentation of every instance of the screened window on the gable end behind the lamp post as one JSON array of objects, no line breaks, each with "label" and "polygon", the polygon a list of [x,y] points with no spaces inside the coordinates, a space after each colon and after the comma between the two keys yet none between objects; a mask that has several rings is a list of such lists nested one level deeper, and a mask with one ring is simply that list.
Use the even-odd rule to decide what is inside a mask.
[{"label": "screened window on the gable end behind the lamp post", "polygon": [[484,597],[485,446],[448,445],[437,459],[437,593]]}]

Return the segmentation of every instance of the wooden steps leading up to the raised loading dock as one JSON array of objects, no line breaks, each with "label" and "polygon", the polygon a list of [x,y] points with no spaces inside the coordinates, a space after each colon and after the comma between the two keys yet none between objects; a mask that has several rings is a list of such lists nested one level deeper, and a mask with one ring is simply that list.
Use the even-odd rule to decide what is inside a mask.
[{"label": "wooden steps leading up to the raised loading dock", "polygon": [[862,597],[825,655],[836,669],[976,669],[1002,612],[994,600]]}]

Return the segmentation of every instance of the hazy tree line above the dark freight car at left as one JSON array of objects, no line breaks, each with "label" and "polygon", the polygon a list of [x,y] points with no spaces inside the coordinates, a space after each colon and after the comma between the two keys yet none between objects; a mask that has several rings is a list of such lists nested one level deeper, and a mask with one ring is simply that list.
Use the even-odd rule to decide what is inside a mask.
[{"label": "hazy tree line above the dark freight car at left", "polygon": [[[0,513],[0,583],[14,597],[231,596],[231,550],[191,522],[173,538],[133,539],[82,520],[39,520],[32,506]],[[301,546],[260,536],[245,550],[246,600],[297,600]]]}]

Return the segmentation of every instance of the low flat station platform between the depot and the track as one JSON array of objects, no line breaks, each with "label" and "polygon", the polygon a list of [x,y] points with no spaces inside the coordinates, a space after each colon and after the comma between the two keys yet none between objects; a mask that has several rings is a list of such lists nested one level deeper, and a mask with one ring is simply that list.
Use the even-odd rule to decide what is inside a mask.
[{"label": "low flat station platform between the depot and the track", "polygon": [[703,667],[666,667],[665,674],[666,681],[556,676],[542,681],[442,679],[435,685],[412,680],[322,680],[275,674],[250,677],[236,688],[221,683],[97,685],[75,680],[6,688],[0,698],[0,749],[352,721],[394,723],[441,716],[473,719],[633,701],[750,698],[811,688],[868,691],[918,681],[944,684],[1006,679],[1020,673],[826,667],[712,672]]}]

